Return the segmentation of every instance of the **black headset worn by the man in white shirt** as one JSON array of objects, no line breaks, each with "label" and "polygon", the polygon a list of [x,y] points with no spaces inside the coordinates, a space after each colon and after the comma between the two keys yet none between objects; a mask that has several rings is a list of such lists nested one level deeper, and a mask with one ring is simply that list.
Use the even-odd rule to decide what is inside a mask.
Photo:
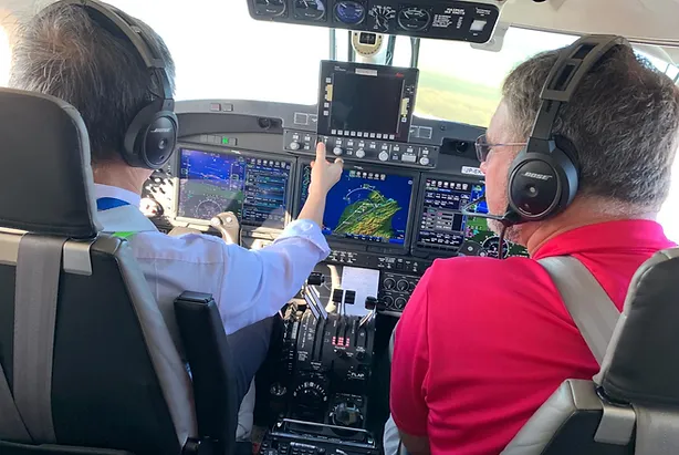
[{"label": "black headset worn by the man in white shirt", "polygon": [[[159,49],[152,44],[137,22],[123,11],[96,0],[62,0],[53,4],[82,7],[90,18],[115,37],[132,43],[149,73],[149,92],[154,100],[144,106],[127,126],[125,162],[134,167],[158,169],[165,165],[177,145],[178,122],[167,69]],[[125,71],[121,69],[119,71]],[[163,93],[154,93],[161,90]]]}]

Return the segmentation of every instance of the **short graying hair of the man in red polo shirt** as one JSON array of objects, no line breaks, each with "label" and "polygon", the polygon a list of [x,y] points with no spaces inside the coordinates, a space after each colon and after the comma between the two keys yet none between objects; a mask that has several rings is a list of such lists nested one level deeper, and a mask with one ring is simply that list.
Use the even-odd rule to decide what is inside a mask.
[{"label": "short graying hair of the man in red polo shirt", "polygon": [[[529,137],[540,92],[558,51],[541,53],[505,80],[513,133]],[[629,48],[608,52],[556,118],[581,167],[579,193],[657,211],[668,196],[678,145],[679,90]]]}]

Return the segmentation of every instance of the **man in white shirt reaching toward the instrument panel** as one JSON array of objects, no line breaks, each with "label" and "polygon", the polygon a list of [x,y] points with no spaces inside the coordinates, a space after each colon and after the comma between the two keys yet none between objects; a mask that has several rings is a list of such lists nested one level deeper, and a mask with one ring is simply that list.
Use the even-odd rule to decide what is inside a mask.
[{"label": "man in white shirt reaching toward the instrument panel", "polygon": [[[154,30],[126,18],[155,50],[158,59],[154,60],[163,63],[164,71],[149,74],[139,48],[126,32],[102,23],[101,14],[90,15],[90,9],[81,4],[58,2],[22,28],[13,48],[9,84],[56,96],[80,112],[88,132],[97,218],[104,230],[128,238],[180,351],[174,300],[184,291],[213,296],[234,351],[237,396],[243,397],[265,358],[272,317],[328,254],[318,226],[327,192],[342,174],[342,162],[330,164],[325,147],[318,147],[299,220],[261,250],[249,251],[205,235],[174,238],[159,232],[138,208],[142,187],[154,167],[140,156],[148,143],[129,144],[128,139],[140,137],[159,93],[166,99],[174,94],[175,64]],[[43,71],[45,68],[59,71]],[[160,144],[167,142],[156,144],[155,151],[169,159]]]}]

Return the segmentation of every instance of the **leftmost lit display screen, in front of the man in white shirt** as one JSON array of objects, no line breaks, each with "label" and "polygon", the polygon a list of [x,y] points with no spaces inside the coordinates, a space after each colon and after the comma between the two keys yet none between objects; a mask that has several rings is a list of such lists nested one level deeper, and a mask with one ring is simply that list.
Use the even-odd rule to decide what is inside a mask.
[{"label": "leftmost lit display screen, in front of the man in white shirt", "polygon": [[291,164],[182,148],[177,216],[210,220],[233,211],[241,224],[282,229]]}]

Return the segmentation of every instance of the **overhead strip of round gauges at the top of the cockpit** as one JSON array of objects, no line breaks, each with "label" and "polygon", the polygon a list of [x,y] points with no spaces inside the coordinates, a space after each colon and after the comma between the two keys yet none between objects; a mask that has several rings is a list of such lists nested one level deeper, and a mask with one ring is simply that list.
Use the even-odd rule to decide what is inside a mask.
[{"label": "overhead strip of round gauges at the top of the cockpit", "polygon": [[488,42],[500,10],[473,1],[420,0],[247,0],[260,21],[355,31]]}]

